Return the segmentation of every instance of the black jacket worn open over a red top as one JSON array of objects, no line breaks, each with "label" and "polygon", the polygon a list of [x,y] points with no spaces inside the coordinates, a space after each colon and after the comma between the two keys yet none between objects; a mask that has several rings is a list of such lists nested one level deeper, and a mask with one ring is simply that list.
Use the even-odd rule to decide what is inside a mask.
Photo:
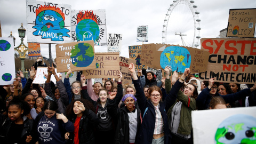
[{"label": "black jacket worn open over a red top", "polygon": [[[75,124],[76,117],[69,119]],[[90,109],[85,109],[80,119],[78,139],[79,144],[95,143],[94,128],[99,124],[99,119]],[[74,143],[74,133],[70,133],[68,143]]]}]

